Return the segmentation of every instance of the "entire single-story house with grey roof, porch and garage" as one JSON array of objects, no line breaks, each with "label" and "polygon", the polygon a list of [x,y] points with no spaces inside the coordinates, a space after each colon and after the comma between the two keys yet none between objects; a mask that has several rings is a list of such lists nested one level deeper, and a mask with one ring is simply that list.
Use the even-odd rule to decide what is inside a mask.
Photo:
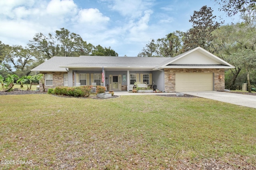
[{"label": "entire single-story house with grey roof, porch and garage", "polygon": [[197,47],[173,58],[56,56],[32,71],[45,75],[46,89],[103,83],[108,90],[130,91],[135,82],[140,82],[155,85],[162,92],[182,92],[224,91],[224,70],[228,68],[234,66]]}]

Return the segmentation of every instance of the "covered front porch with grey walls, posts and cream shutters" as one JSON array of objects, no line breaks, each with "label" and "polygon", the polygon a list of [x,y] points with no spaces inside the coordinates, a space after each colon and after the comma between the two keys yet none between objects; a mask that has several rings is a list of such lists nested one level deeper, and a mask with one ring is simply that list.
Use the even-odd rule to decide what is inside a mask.
[{"label": "covered front porch with grey walls, posts and cream shutters", "polygon": [[145,83],[148,86],[156,85],[164,90],[164,73],[152,70],[110,70],[104,69],[104,82],[102,70],[68,70],[68,86],[88,86],[96,83],[105,86],[107,90],[132,91],[135,82]]}]

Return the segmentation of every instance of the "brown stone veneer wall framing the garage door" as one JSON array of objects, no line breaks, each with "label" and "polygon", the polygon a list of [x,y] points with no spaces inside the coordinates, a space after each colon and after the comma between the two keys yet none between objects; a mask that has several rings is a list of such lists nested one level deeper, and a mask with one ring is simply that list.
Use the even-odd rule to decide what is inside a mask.
[{"label": "brown stone veneer wall framing the garage door", "polygon": [[[195,69],[195,68],[166,68],[164,69],[164,91],[175,92],[175,73],[186,72],[212,72],[214,73],[214,90],[224,91],[225,89],[225,74],[224,68],[207,68],[207,69]],[[222,77],[219,79],[219,77]]]}]

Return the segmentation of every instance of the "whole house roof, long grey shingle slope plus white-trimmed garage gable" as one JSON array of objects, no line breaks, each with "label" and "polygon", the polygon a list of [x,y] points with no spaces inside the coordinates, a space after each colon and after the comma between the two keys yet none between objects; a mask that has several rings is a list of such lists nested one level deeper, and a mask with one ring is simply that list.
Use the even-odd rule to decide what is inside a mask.
[{"label": "whole house roof, long grey shingle slope plus white-trimmed garage gable", "polygon": [[[194,51],[199,51],[203,53],[206,57],[220,63],[216,64],[196,64],[184,63],[184,64],[172,64],[174,61],[180,60],[182,57],[186,56],[188,53]],[[66,68],[119,68],[119,69],[132,69],[132,68],[145,68],[145,69],[163,69],[163,68],[234,68],[231,64],[223,61],[222,59],[216,57],[215,55],[209,53],[208,51],[197,47],[185,53],[182,53],[173,58],[166,57],[113,57],[113,56],[80,56],[80,57],[52,57],[48,61],[40,64],[32,71],[66,71]]]}]

